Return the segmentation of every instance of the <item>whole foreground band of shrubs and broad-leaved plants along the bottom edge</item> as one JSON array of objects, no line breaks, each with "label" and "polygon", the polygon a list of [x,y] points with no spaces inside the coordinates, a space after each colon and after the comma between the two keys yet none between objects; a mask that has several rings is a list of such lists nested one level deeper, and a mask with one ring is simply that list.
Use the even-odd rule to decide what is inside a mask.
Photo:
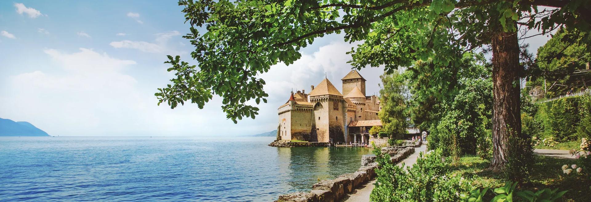
[{"label": "whole foreground band of shrubs and broad-leaved plants along the bottom edge", "polygon": [[[517,187],[517,183],[505,183],[505,186],[499,187],[498,182],[491,183],[478,178],[476,172],[458,173],[457,167],[450,164],[450,159],[441,155],[441,150],[419,154],[417,163],[406,168],[404,164],[392,164],[390,156],[381,153],[379,148],[374,153],[379,168],[376,170],[378,178],[370,195],[371,201],[558,201],[567,193],[560,188],[550,189],[545,186],[530,191],[525,190],[527,187]],[[460,165],[465,165],[465,159],[462,158]],[[493,187],[491,191],[488,191],[489,187]]]}]

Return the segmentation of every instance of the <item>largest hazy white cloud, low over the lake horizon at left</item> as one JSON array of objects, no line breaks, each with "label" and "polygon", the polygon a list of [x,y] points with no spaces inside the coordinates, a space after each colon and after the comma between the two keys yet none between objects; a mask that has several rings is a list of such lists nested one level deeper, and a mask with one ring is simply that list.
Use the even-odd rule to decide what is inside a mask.
[{"label": "largest hazy white cloud, low over the lake horizon at left", "polygon": [[72,53],[58,49],[44,52],[53,62],[37,68],[47,70],[13,75],[0,88],[3,116],[30,121],[51,135],[219,134],[212,124],[225,125],[226,134],[257,129],[226,120],[219,110],[219,97],[203,110],[189,103],[175,110],[165,104],[158,106],[156,88],[174,77],[161,64],[154,77],[141,82],[127,72],[149,71],[132,60],[86,48]]}]

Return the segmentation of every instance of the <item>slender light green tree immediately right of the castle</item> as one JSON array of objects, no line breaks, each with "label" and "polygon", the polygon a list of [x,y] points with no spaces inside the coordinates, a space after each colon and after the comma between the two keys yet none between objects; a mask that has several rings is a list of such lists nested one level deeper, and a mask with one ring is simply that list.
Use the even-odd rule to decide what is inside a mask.
[{"label": "slender light green tree immediately right of the castle", "polygon": [[392,139],[401,139],[407,128],[407,105],[404,97],[406,84],[404,77],[398,71],[392,74],[381,75],[383,88],[379,90],[381,95],[379,119],[382,121],[383,130],[390,134]]}]

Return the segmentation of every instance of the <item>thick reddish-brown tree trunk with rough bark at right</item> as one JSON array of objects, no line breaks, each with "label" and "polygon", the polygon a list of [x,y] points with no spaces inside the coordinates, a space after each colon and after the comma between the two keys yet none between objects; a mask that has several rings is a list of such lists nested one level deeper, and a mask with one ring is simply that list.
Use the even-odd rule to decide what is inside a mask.
[{"label": "thick reddish-brown tree trunk with rough bark at right", "polygon": [[519,45],[517,33],[499,31],[492,37],[492,145],[494,171],[504,170],[509,137],[521,137],[519,107]]}]

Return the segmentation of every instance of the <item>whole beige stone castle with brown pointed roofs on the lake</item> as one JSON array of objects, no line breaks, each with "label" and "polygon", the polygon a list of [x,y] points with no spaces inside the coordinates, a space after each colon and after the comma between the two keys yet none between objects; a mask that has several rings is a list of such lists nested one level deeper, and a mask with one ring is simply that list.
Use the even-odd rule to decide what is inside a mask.
[{"label": "whole beige stone castle with brown pointed roofs on the lake", "polygon": [[320,84],[291,92],[278,108],[277,140],[321,143],[368,143],[369,129],[382,125],[379,98],[366,96],[365,78],[352,70],[341,79],[343,94],[324,78]]}]

